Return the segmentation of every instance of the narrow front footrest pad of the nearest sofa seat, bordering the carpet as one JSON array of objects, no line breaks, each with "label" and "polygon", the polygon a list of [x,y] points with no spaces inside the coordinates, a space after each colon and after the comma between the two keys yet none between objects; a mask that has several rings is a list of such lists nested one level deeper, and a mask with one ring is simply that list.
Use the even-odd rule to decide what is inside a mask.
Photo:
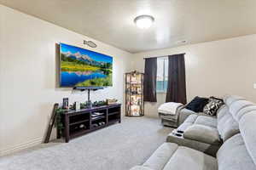
[{"label": "narrow front footrest pad of the nearest sofa seat, bordering the carpet", "polygon": [[166,163],[171,159],[172,155],[177,150],[178,145],[173,143],[164,143],[154,151],[154,154],[148,158],[143,164],[143,167],[149,167],[154,170],[161,170]]}]

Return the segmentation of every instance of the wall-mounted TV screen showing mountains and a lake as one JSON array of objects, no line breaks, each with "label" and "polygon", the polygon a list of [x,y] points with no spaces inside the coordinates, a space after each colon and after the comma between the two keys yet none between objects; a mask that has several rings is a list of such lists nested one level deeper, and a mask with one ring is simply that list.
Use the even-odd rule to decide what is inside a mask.
[{"label": "wall-mounted TV screen showing mountains and a lake", "polygon": [[112,57],[65,43],[60,43],[60,53],[61,87],[112,86]]}]

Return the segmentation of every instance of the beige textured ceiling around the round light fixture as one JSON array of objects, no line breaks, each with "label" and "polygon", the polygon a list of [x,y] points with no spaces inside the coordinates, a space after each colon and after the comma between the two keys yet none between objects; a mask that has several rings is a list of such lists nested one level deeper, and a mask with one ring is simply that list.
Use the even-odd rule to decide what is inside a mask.
[{"label": "beige textured ceiling around the round light fixture", "polygon": [[[0,0],[131,53],[256,33],[255,0]],[[154,16],[148,30],[133,23]]]}]

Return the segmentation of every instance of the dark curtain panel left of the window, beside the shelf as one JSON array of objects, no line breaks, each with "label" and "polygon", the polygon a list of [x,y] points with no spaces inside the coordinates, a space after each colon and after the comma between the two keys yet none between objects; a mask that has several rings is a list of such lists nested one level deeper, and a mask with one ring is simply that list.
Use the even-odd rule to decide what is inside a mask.
[{"label": "dark curtain panel left of the window, beside the shelf", "polygon": [[156,102],[157,58],[145,59],[144,101]]}]

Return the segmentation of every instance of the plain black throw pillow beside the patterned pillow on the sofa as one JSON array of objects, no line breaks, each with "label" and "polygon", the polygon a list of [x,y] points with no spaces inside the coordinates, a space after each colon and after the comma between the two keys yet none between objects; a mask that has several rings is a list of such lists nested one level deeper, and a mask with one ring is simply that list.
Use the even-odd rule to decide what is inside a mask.
[{"label": "plain black throw pillow beside the patterned pillow on the sofa", "polygon": [[186,105],[186,109],[195,112],[202,112],[208,101],[209,99],[207,98],[201,98],[196,96],[194,99],[192,99],[192,101],[189,102],[188,105]]}]

